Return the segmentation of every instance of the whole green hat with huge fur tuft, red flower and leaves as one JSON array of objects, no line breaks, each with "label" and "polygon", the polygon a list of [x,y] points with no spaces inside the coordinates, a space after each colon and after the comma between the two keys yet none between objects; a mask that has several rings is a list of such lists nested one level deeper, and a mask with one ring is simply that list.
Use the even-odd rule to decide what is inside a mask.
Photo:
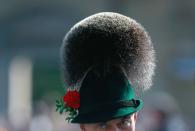
[{"label": "whole green hat with huge fur tuft, red flower and leaves", "polygon": [[72,123],[107,121],[139,111],[143,102],[135,99],[134,90],[152,85],[154,54],[146,30],[127,16],[102,12],[83,19],[62,44],[67,92],[57,109],[68,112]]}]

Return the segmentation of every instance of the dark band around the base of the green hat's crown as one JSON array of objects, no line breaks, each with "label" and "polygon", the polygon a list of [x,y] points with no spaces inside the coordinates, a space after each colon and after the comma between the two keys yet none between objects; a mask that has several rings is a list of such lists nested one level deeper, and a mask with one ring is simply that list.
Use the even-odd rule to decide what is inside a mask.
[{"label": "dark band around the base of the green hat's crown", "polygon": [[105,111],[110,110],[110,109],[117,109],[121,107],[133,107],[136,108],[140,104],[139,100],[122,100],[122,101],[117,101],[117,102],[110,102],[110,103],[102,103],[94,106],[84,106],[79,109],[80,114],[88,114],[88,113],[93,113],[97,111]]}]

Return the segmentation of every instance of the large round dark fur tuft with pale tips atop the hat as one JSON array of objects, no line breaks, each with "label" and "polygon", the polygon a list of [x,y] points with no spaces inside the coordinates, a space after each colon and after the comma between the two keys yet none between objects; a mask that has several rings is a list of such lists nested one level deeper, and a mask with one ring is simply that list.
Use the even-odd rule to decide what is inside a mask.
[{"label": "large round dark fur tuft with pale tips atop the hat", "polygon": [[155,51],[147,31],[135,20],[113,12],[89,16],[75,24],[61,47],[65,83],[77,83],[95,65],[124,69],[135,89],[152,85]]}]

